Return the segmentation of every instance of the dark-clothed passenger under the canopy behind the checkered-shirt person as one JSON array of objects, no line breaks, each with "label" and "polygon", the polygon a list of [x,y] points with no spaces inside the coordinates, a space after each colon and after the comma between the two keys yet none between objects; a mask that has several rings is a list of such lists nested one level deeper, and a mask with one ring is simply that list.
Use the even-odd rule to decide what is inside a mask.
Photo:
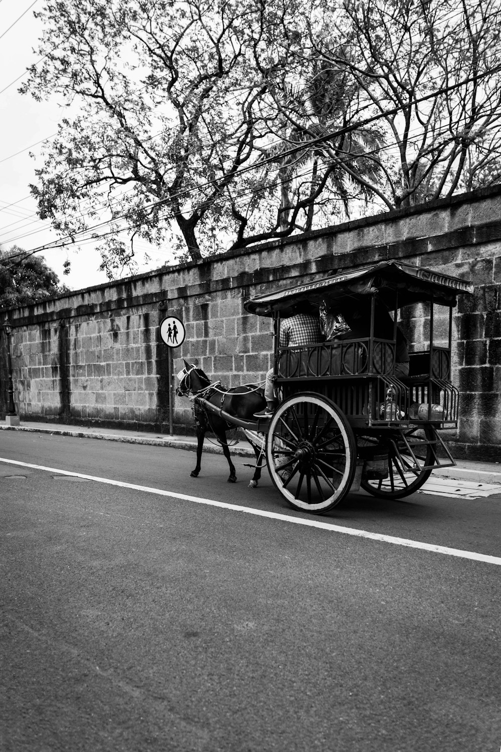
[{"label": "dark-clothed passenger under the canopy behind the checkered-shirt person", "polygon": [[[338,339],[367,339],[370,337],[370,301],[361,302],[357,308],[343,311],[343,317],[350,327],[350,332],[340,335]],[[378,339],[393,339],[394,321],[388,308],[376,300],[374,312],[374,336]],[[397,324],[395,347],[394,376],[409,376],[409,350],[405,335]]]}]

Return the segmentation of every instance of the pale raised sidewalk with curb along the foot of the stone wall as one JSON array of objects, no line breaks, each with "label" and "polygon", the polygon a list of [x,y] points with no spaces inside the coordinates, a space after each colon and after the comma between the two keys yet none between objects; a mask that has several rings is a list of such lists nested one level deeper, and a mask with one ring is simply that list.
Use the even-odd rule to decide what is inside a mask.
[{"label": "pale raised sidewalk with curb along the foot of the stone wall", "polygon": [[[38,423],[38,421],[24,421],[20,426],[7,426],[0,420],[0,430],[3,431],[31,431],[39,435],[54,434],[60,436],[76,436],[78,438],[98,438],[104,441],[122,441],[126,444],[149,444],[156,447],[174,447],[196,451],[195,436],[169,436],[146,431],[126,431],[124,429],[108,429],[87,426],[66,426],[61,423]],[[206,436],[204,452],[222,454],[219,444],[213,444],[215,438]],[[254,456],[252,447],[242,439],[230,446],[230,451],[236,456]],[[457,466],[434,470],[433,475],[441,478],[452,478],[455,481],[472,481],[481,484],[501,485],[501,456],[500,462],[471,462],[466,459],[457,460]]]}]

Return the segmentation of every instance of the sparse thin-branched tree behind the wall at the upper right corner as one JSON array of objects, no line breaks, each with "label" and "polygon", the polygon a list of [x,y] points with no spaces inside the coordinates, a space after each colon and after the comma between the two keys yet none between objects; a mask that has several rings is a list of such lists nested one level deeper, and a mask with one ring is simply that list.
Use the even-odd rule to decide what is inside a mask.
[{"label": "sparse thin-branched tree behind the wall at the upper right corner", "polygon": [[386,148],[370,156],[383,206],[499,182],[500,35],[498,0],[345,0],[310,29],[318,58],[346,70],[361,111],[385,126]]}]

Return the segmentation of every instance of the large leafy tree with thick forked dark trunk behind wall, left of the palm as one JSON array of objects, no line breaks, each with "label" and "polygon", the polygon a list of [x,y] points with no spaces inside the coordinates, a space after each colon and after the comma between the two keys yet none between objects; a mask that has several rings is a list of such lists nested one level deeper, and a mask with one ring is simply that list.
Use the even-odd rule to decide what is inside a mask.
[{"label": "large leafy tree with thick forked dark trunk behind wall, left of the palm", "polygon": [[[21,90],[59,94],[80,111],[62,121],[36,171],[40,216],[69,241],[99,239],[110,276],[130,265],[135,237],[174,236],[196,261],[311,227],[315,206],[338,198],[342,160],[332,156],[339,144],[328,157],[284,154],[284,143],[304,139],[294,124],[284,140],[281,123],[282,108],[295,106],[287,82],[309,75],[300,46],[309,8],[308,0],[47,0],[36,14],[44,62]],[[297,181],[302,159],[308,169],[288,193],[289,211],[282,186]],[[367,171],[358,165],[352,172]]]}]

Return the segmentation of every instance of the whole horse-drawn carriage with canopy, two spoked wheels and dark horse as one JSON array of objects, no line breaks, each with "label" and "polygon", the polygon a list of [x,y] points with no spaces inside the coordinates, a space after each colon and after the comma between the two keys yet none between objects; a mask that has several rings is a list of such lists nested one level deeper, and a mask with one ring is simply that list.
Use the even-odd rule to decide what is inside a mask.
[{"label": "whole horse-drawn carriage with canopy, two spoked wheels and dark horse", "polygon": [[[257,296],[244,308],[273,319],[279,396],[273,416],[254,417],[264,402],[253,385],[215,387],[188,363],[178,393],[195,395],[195,414],[204,414],[202,427],[224,438],[230,467],[225,428],[243,428],[258,465],[264,453],[273,484],[296,509],[322,514],[360,487],[400,499],[418,490],[433,468],[455,464],[439,432],[457,427],[452,308],[458,294],[472,292],[457,277],[391,261]],[[327,328],[322,341],[280,347],[281,323],[306,302],[324,320],[339,320],[347,309],[369,311],[366,335],[348,331],[329,338]],[[391,312],[393,329],[383,335],[377,320],[382,307],[387,316]],[[409,353],[409,374],[397,376],[397,322],[406,310],[413,311],[424,345]]]}]

